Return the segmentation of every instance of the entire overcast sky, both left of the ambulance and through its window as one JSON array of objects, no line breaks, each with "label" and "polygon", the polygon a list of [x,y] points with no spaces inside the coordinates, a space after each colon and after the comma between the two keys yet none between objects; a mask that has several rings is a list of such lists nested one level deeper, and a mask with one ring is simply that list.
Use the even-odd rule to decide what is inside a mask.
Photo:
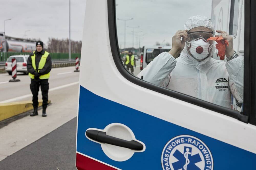
[{"label": "entire overcast sky, both left of the ambulance and through its window", "polygon": [[[211,0],[116,0],[116,18],[130,19],[126,26],[141,36],[141,46],[156,41],[171,43],[177,30],[183,29],[190,16],[211,17]],[[71,0],[71,39],[82,40],[86,0]],[[1,4],[0,22],[6,21],[5,32],[11,37],[41,39],[68,38],[69,0],[9,0]],[[124,21],[117,20],[119,46],[124,48]],[[4,27],[0,27],[3,31]],[[134,47],[138,46],[136,33]],[[126,47],[132,47],[132,28],[126,28]]]}]

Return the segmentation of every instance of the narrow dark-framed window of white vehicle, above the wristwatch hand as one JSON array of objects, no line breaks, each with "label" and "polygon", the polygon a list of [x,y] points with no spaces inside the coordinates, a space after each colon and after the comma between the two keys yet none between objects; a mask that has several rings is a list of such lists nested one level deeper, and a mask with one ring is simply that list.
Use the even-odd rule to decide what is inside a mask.
[{"label": "narrow dark-framed window of white vehicle, above the wristwatch hand", "polygon": [[239,0],[231,0],[229,34],[235,35],[238,28]]}]

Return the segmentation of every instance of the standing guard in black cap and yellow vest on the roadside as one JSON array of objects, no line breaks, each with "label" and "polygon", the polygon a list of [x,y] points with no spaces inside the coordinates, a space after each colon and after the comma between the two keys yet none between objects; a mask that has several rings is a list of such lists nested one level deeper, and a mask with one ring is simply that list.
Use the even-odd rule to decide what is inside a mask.
[{"label": "standing guard in black cap and yellow vest on the roadside", "polygon": [[34,112],[30,114],[30,116],[38,115],[37,107],[38,107],[38,91],[39,86],[41,86],[42,99],[43,99],[43,112],[42,116],[46,115],[46,107],[48,105],[48,90],[49,83],[48,79],[50,77],[51,71],[51,57],[48,52],[44,49],[44,43],[42,41],[36,42],[36,51],[28,57],[27,60],[27,70],[28,75],[31,78],[30,90],[33,94],[33,107]]}]

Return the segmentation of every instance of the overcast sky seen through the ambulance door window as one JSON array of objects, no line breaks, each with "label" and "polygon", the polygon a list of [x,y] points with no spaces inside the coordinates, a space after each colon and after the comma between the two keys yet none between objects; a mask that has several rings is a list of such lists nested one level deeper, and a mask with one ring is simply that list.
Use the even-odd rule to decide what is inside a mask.
[{"label": "overcast sky seen through the ambulance door window", "polygon": [[[130,19],[126,26],[140,26],[141,46],[158,41],[172,43],[172,36],[184,29],[184,23],[193,15],[211,18],[211,0],[116,0],[116,18]],[[124,48],[124,21],[117,20],[119,47]],[[136,33],[135,33],[136,34]],[[132,47],[132,28],[126,27],[126,47]],[[134,47],[137,38],[134,35]]]}]

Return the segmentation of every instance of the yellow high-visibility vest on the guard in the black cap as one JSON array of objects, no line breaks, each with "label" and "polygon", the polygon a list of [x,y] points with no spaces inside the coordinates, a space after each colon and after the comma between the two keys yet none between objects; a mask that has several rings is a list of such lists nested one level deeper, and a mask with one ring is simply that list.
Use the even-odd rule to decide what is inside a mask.
[{"label": "yellow high-visibility vest on the guard in the black cap", "polygon": [[[31,56],[31,60],[32,60],[32,67],[36,70],[36,54],[35,54],[35,51],[33,51],[34,55]],[[49,53],[45,51],[45,53],[42,55],[41,59],[40,59],[40,62],[38,64],[38,72],[44,68],[45,66],[45,63],[46,63],[46,59],[47,57],[49,56]],[[35,75],[34,74],[31,74],[31,73],[28,73],[29,77],[31,79],[35,79]],[[47,74],[44,74],[44,75],[41,75],[39,76],[39,79],[49,79],[50,77],[50,72],[48,72]]]}]

